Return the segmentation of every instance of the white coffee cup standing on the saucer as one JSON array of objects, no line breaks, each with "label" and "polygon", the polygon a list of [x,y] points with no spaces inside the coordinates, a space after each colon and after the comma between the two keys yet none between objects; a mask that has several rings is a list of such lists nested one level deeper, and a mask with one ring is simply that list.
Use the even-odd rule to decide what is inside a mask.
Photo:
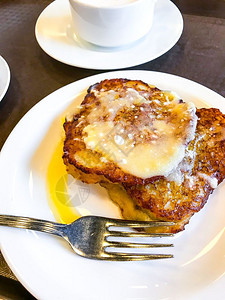
[{"label": "white coffee cup standing on the saucer", "polygon": [[130,44],[145,36],[157,0],[69,0],[75,34],[103,47]]}]

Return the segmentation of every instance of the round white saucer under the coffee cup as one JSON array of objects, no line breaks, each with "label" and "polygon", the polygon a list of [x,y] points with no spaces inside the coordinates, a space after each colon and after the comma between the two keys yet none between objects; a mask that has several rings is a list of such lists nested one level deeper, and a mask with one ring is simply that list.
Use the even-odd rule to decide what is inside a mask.
[{"label": "round white saucer under the coffee cup", "polygon": [[72,30],[69,1],[56,0],[39,16],[35,34],[40,47],[68,65],[87,69],[121,69],[151,61],[171,49],[181,36],[183,19],[169,0],[158,0],[147,36],[121,48],[104,48],[78,39]]}]

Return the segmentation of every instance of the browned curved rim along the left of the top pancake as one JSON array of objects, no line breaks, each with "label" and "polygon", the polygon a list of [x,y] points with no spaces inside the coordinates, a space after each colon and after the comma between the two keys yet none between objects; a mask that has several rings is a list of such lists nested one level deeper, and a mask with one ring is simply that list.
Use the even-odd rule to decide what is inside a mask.
[{"label": "browned curved rim along the left of the top pancake", "polygon": [[[87,120],[83,121],[83,126],[77,126],[80,116],[87,116],[88,113],[93,109],[93,107],[98,107],[98,99],[96,99],[94,90],[114,90],[121,93],[127,87],[132,87],[140,93],[147,92],[149,99],[151,99],[151,97],[156,93],[160,92],[160,90],[156,87],[149,87],[148,84],[140,80],[112,79],[104,80],[100,83],[96,83],[90,86],[87,91],[88,94],[85,96],[84,101],[81,104],[83,105],[83,108],[78,114],[74,115],[72,121],[66,120],[66,122],[64,123],[66,139],[64,142],[63,160],[65,165],[69,166],[71,171],[74,167],[86,174],[99,175],[100,180],[102,180],[102,177],[105,177],[106,181],[110,180],[111,182],[127,182],[130,184],[143,184],[146,182],[151,182],[155,179],[150,178],[147,180],[143,180],[141,178],[133,176],[132,174],[122,171],[121,168],[119,168],[113,162],[102,163],[99,154],[96,151],[88,151],[86,149],[85,143],[82,141],[82,130],[85,126],[88,125]],[[74,141],[74,137],[77,137],[76,141]],[[80,153],[81,156],[85,155],[85,163],[80,163],[79,160],[74,156],[74,153]],[[87,161],[89,162],[90,160],[94,162],[91,167],[87,166]]]}]

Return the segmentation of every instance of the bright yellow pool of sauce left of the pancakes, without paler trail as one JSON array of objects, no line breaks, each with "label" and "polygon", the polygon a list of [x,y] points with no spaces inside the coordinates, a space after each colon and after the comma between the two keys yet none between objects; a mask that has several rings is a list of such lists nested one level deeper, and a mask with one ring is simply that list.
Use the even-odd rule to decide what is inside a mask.
[{"label": "bright yellow pool of sauce left of the pancakes, without paler trail", "polygon": [[47,171],[47,191],[49,206],[60,223],[71,223],[80,217],[73,207],[67,190],[67,172],[62,159],[61,141],[51,158]]}]

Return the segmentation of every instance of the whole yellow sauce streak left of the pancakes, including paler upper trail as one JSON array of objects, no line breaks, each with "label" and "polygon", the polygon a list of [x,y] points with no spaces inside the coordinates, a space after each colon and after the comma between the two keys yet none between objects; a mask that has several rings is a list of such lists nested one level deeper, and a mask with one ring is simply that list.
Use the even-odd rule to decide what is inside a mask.
[{"label": "whole yellow sauce streak left of the pancakes, including paler upper trail", "polygon": [[[50,155],[49,161],[46,162],[46,189],[49,207],[56,221],[59,223],[71,223],[79,218],[81,214],[85,215],[89,213],[84,208],[79,208],[79,212],[75,209],[68,193],[68,174],[62,159],[64,139],[63,123],[65,116],[69,118],[75,113],[75,110],[84,99],[85,94],[86,90],[78,94],[74,101],[68,105],[66,110],[54,120],[45,138],[47,142],[43,144],[44,151],[46,151],[46,147],[49,147],[49,141],[53,147],[53,149],[49,147],[49,151],[52,154]],[[42,153],[40,159],[43,159]]]}]

